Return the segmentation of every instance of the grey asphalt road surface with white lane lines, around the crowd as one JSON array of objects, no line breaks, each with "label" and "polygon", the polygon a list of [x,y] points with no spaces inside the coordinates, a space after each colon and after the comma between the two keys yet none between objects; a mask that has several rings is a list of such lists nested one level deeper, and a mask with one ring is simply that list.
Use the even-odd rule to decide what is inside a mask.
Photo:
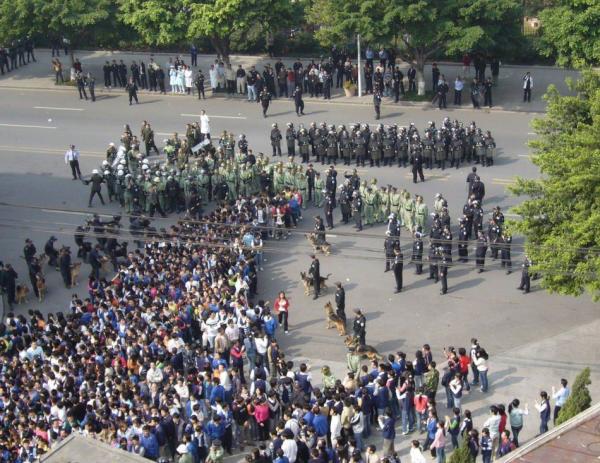
[{"label": "grey asphalt road surface with white lane lines, around the crowd", "polygon": [[[250,147],[265,154],[270,154],[268,134],[273,122],[280,127],[290,120],[295,125],[302,122],[305,126],[313,120],[335,125],[375,123],[370,105],[335,100],[330,103],[307,101],[306,116],[302,118],[295,115],[292,102],[275,100],[266,119],[262,118],[257,104],[222,98],[199,102],[192,97],[141,93],[140,104],[130,107],[123,93],[113,92],[102,94],[92,104],[80,101],[75,89],[66,93],[26,85],[29,70],[24,68],[20,79],[11,77],[11,85],[4,85],[6,79],[0,80],[0,255],[5,262],[14,264],[23,281],[28,281],[25,262],[20,258],[26,237],[34,240],[38,251],[50,234],[57,236],[59,245],[74,247],[73,229],[92,211],[118,212],[114,204],[104,207],[96,204],[93,210],[87,208],[88,187],[72,181],[64,163],[64,152],[71,143],[81,150],[81,167],[85,174],[104,159],[109,142],[118,142],[123,124],[131,124],[138,134],[144,119],[152,123],[160,142],[174,131],[183,133],[185,123],[197,120],[196,115],[205,109],[211,117],[213,137],[218,137],[222,130],[233,131],[236,136],[245,133]],[[22,88],[9,88],[18,83],[23,83]],[[439,124],[444,116],[463,121],[465,125],[473,120],[483,130],[491,130],[499,148],[498,159],[493,167],[479,168],[486,185],[486,212],[499,205],[510,218],[507,210],[516,199],[507,195],[506,186],[515,175],[537,175],[526,147],[527,141],[534,137],[529,124],[535,114],[470,109],[438,111],[430,107],[394,105],[384,106],[382,116],[384,124],[402,126],[414,122],[420,130],[429,120]],[[343,173],[343,166],[338,166],[338,171]],[[412,183],[408,169],[382,167],[359,172],[363,178],[376,177],[379,185],[392,184],[423,195],[430,210],[435,193],[442,193],[448,200],[455,225],[466,197],[465,178],[470,166],[426,170],[426,181],[417,185]],[[322,211],[305,211],[303,222],[290,240],[266,243],[268,262],[259,280],[261,297],[266,300],[273,300],[280,289],[289,293],[291,331],[282,338],[282,344],[288,356],[309,360],[316,378],[320,378],[319,369],[323,364],[330,365],[336,375],[343,375],[346,352],[337,334],[325,328],[323,304],[333,300],[333,291],[330,289],[324,297],[313,301],[304,296],[299,283],[299,272],[308,268],[311,251],[302,231],[312,228],[312,217],[318,213]],[[427,342],[436,360],[441,361],[444,346],[468,347],[470,338],[475,336],[490,353],[490,393],[483,396],[475,391],[464,400],[465,408],[473,411],[476,426],[482,424],[482,417],[492,403],[506,404],[518,397],[533,409],[541,389],[549,391],[552,385],[558,386],[561,377],[572,381],[584,366],[592,367],[592,394],[598,397],[600,342],[596,333],[600,319],[597,306],[587,297],[549,295],[537,285],[528,295],[517,291],[522,259],[519,237],[514,241],[516,272],[512,275],[505,275],[499,263],[491,259],[486,260],[488,271],[483,274],[477,274],[472,263],[459,264],[449,272],[448,295],[440,296],[439,287],[424,275],[414,275],[414,267],[408,265],[404,271],[405,290],[394,294],[393,275],[383,273],[384,227],[366,228],[357,233],[350,226],[338,226],[339,218],[339,210],[336,210],[336,228],[328,235],[334,252],[321,258],[321,273],[331,273],[330,282],[344,283],[347,312],[354,307],[365,310],[369,344],[385,354],[402,350],[412,358],[414,351]],[[173,220],[157,219],[156,223],[166,226]],[[406,233],[402,245],[406,257],[411,246]],[[47,273],[49,294],[43,310],[65,310],[72,291],[62,289],[58,273],[52,270]],[[82,276],[84,274],[85,271]],[[85,286],[80,283],[76,292],[84,294]],[[17,310],[23,312],[33,307],[39,305],[30,301]],[[536,433],[535,410],[525,423],[523,440]],[[405,454],[409,440],[398,437],[397,442]]]}]

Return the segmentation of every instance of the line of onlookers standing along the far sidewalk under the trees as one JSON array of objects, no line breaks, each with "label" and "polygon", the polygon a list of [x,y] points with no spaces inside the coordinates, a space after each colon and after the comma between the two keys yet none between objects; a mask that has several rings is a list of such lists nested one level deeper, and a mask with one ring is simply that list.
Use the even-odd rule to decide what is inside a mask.
[{"label": "line of onlookers standing along the far sidewalk under the trees", "polygon": [[[52,56],[56,83],[59,83],[59,80],[63,81],[62,64],[58,57],[54,59],[54,53]],[[488,64],[491,74],[486,76]],[[95,76],[90,72],[82,72],[78,67],[80,63],[76,61],[71,79],[77,81],[78,88],[80,82],[82,87],[93,88]],[[472,79],[471,67],[475,69]],[[453,90],[454,105],[460,106],[463,104],[462,94],[466,92],[465,87],[470,85],[469,95],[473,107],[479,108],[482,105],[491,107],[492,88],[498,81],[499,68],[497,59],[465,54],[463,75],[457,75],[452,84],[441,73],[437,63],[433,63],[432,103],[437,103],[440,109],[446,108],[447,95]],[[255,65],[236,66],[229,60],[217,56],[205,71],[206,75],[201,68],[198,68],[198,50],[194,46],[190,49],[189,62],[186,62],[181,55],[177,55],[175,58],[169,57],[164,63],[158,63],[154,55],[151,55],[148,62],[143,59],[132,60],[131,63],[112,60],[106,61],[102,66],[103,83],[106,89],[127,88],[131,91],[135,86],[136,93],[142,89],[163,94],[167,92],[196,94],[198,98],[206,98],[205,87],[208,87],[211,94],[246,95],[248,101],[263,103],[267,98],[269,101],[272,98],[300,97],[301,99],[303,94],[331,99],[334,89],[355,89],[359,82],[359,73],[364,92],[373,94],[375,101],[379,101],[381,97],[393,97],[394,101],[398,102],[407,92],[417,91],[416,68],[410,65],[405,69],[405,75],[401,67],[396,64],[394,52],[384,48],[375,51],[367,47],[364,53],[364,64],[361,64],[360,70],[353,56],[345,50],[333,47],[328,56],[321,56],[320,59],[303,62],[298,58],[286,65],[281,58],[276,58],[274,64],[267,63],[263,65],[262,70]],[[527,88],[531,88],[529,83]],[[81,97],[81,90],[79,94]],[[301,115],[300,111],[298,113]]]}]

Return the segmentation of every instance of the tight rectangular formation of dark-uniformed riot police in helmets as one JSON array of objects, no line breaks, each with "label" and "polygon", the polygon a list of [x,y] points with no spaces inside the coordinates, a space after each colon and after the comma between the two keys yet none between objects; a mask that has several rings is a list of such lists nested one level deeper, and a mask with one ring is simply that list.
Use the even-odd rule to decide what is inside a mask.
[{"label": "tight rectangular formation of dark-uniformed riot police in helmets", "polygon": [[491,166],[496,157],[496,142],[489,130],[484,133],[475,122],[465,127],[462,122],[452,122],[448,117],[439,128],[430,121],[423,136],[414,123],[409,127],[378,124],[374,128],[368,124],[352,124],[349,128],[340,125],[336,129],[325,122],[320,126],[312,122],[308,128],[300,124],[296,129],[288,122],[285,134],[273,124],[270,135],[273,156],[281,155],[283,138],[288,156],[298,154],[303,163],[308,163],[313,156],[322,164],[339,161],[350,165],[354,161],[357,166],[368,162],[371,167],[395,164],[406,167],[418,158],[419,163],[429,169],[434,166],[458,169],[465,162]]}]

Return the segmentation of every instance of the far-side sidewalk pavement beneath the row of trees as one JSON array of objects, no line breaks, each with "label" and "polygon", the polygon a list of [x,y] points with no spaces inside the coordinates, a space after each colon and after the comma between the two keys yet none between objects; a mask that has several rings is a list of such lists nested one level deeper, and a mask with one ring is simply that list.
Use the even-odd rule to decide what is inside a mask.
[{"label": "far-side sidewalk pavement beneath the row of trees", "polygon": [[[4,76],[0,77],[0,88],[27,88],[27,89],[35,89],[35,90],[54,90],[54,91],[68,91],[73,92],[76,91],[72,87],[68,86],[56,86],[54,85],[54,76],[51,69],[51,54],[48,49],[39,49],[35,51],[36,54],[36,63],[30,63],[26,66],[20,67],[16,71],[12,71]],[[150,56],[153,56],[155,61],[161,66],[165,66],[168,62],[169,57],[175,57],[175,54],[166,54],[166,53],[137,53],[137,52],[112,52],[112,51],[80,51],[75,52],[75,57],[79,58],[81,63],[83,64],[83,69],[85,72],[91,72],[96,77],[96,93],[102,94],[108,90],[105,90],[102,86],[102,65],[106,60],[112,61],[113,59],[119,61],[123,60],[125,64],[129,67],[131,62],[135,60],[136,62],[145,61],[148,63]],[[183,56],[185,61],[189,62],[189,56]],[[208,83],[208,69],[211,63],[216,59],[216,55],[199,55],[198,56],[198,65],[203,70],[204,75],[206,76],[206,82]],[[68,56],[61,56],[61,61],[63,65],[66,67],[69,66],[70,61]],[[244,68],[248,68],[250,66],[256,66],[259,72],[262,71],[262,67],[266,63],[274,64],[276,61],[275,58],[269,58],[265,56],[248,56],[248,55],[232,55],[231,56],[231,64],[234,68],[237,68],[239,64],[244,66]],[[283,62],[286,65],[291,65],[292,62],[295,61],[295,58],[284,58]],[[303,63],[308,62],[308,59],[302,59]],[[408,65],[403,63],[401,66],[404,74],[406,74],[406,69]],[[442,74],[445,74],[446,79],[450,85],[453,87],[454,79],[457,75],[463,74],[462,65],[459,63],[439,63],[440,70]],[[532,92],[532,101],[531,103],[524,104],[522,102],[522,76],[531,70],[533,79],[534,79],[534,88]],[[65,75],[67,74],[67,70],[65,71]],[[471,69],[471,77],[473,74],[473,69]],[[568,93],[569,89],[565,84],[565,79],[567,77],[577,78],[578,71],[566,70],[556,67],[545,67],[545,66],[507,66],[500,68],[500,76],[499,82],[494,87],[492,91],[492,98],[494,110],[505,110],[505,111],[526,111],[526,112],[543,112],[545,111],[546,103],[542,99],[542,95],[545,92],[546,88],[550,84],[555,84],[561,93]],[[469,76],[467,76],[465,82],[465,90],[463,90],[463,109],[470,109],[470,99],[468,96],[468,81]],[[431,90],[431,65],[425,66],[425,83],[427,90]],[[363,84],[364,85],[364,84]],[[405,83],[405,86],[407,84]],[[112,90],[112,93],[119,92],[121,90],[116,89]],[[209,92],[210,93],[210,92]],[[185,96],[177,95],[176,97],[185,98]],[[307,101],[311,101],[309,97],[306,98]],[[453,90],[450,91],[448,96],[448,107],[455,108],[450,103],[453,100]],[[323,103],[326,103],[324,100]],[[372,105],[373,98],[371,95],[365,95],[361,98],[359,97],[346,97],[343,93],[342,89],[333,89],[332,91],[332,103],[340,103],[340,104],[364,104],[364,105]],[[384,98],[383,104],[388,106],[396,106],[393,99]],[[402,106],[411,106],[411,107],[431,107],[431,104],[428,102],[404,102],[400,101],[399,103]]]}]

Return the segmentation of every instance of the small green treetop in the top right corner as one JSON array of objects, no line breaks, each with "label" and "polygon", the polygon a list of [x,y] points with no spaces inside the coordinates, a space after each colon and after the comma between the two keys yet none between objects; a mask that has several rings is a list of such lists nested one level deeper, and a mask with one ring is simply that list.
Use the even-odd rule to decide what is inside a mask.
[{"label": "small green treetop in the top right corner", "polygon": [[555,57],[560,66],[600,64],[600,2],[560,0],[540,13],[543,56]]}]

